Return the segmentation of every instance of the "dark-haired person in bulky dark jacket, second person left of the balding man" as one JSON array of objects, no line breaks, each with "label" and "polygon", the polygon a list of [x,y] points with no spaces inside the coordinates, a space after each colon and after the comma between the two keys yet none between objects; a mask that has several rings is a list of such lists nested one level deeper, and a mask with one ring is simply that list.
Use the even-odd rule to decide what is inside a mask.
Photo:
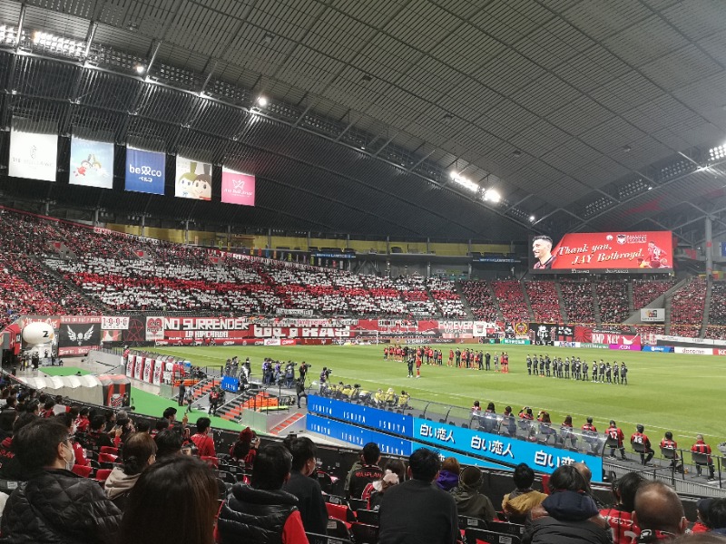
[{"label": "dark-haired person in bulky dark jacket, second person left of the balding man", "polygon": [[613,535],[587,494],[583,474],[572,465],[552,473],[550,496],[530,511],[523,544],[612,544]]}]

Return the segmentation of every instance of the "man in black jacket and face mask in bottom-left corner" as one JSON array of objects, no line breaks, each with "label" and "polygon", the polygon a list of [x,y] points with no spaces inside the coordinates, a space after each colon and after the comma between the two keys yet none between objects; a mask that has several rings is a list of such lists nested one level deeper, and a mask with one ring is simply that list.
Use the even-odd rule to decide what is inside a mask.
[{"label": "man in black jacket and face mask in bottom-left corner", "polygon": [[5,504],[0,542],[112,544],[121,510],[96,481],[69,471],[75,461],[68,428],[55,418],[28,423],[13,438],[27,474]]}]

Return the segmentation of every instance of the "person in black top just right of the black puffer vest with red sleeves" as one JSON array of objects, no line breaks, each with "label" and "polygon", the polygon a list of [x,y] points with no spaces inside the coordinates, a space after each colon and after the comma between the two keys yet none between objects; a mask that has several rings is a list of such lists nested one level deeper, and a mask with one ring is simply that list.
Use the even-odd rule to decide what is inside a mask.
[{"label": "person in black top just right of the black puffer vest with red sleeves", "polygon": [[310,478],[315,471],[317,448],[307,436],[285,441],[292,453],[292,469],[289,480],[282,486],[298,498],[298,509],[305,532],[324,535],[328,531],[328,510],[323,492],[317,480]]}]

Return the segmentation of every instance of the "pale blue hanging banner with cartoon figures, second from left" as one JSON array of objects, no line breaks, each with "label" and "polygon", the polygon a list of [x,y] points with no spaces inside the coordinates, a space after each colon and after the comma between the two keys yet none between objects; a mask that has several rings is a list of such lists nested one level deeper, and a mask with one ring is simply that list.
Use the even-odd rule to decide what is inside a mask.
[{"label": "pale blue hanging banner with cartoon figures, second from left", "polygon": [[113,143],[71,138],[72,185],[113,189]]}]

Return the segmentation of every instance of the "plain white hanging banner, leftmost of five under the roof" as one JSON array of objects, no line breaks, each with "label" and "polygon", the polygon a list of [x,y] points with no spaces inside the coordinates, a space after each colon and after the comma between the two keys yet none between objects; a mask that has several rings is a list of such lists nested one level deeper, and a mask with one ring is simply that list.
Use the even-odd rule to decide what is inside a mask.
[{"label": "plain white hanging banner, leftmost of five under the roof", "polygon": [[15,123],[14,119],[10,132],[7,174],[13,178],[55,181],[58,171],[58,134],[18,130]]}]

